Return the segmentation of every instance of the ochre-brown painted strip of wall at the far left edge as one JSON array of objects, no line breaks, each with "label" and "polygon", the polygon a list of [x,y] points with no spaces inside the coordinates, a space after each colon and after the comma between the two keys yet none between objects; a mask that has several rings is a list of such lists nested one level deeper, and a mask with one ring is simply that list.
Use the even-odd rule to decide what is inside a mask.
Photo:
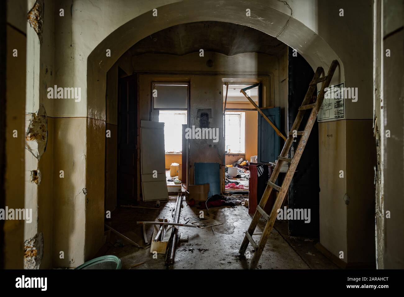
[{"label": "ochre-brown painted strip of wall at the far left edge", "polygon": [[[25,160],[25,65],[26,37],[11,25],[6,27],[6,173],[4,175],[5,206],[24,208]],[[18,56],[13,57],[17,49]],[[2,106],[4,108],[4,106]],[[17,137],[13,137],[17,131]],[[33,209],[34,213],[36,210]],[[22,269],[24,256],[23,220],[4,221],[4,268]],[[33,222],[34,223],[34,222]]]}]

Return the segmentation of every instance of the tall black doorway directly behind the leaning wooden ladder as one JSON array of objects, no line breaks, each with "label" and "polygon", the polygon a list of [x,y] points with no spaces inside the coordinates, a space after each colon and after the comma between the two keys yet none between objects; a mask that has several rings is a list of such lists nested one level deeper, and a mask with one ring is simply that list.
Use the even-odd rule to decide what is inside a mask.
[{"label": "tall black doorway directly behind the leaning wooden ladder", "polygon": [[[309,83],[314,76],[314,71],[307,61],[297,53],[293,57],[293,50],[289,48],[288,54],[288,128],[292,128],[299,106],[306,95]],[[310,103],[316,100],[317,89],[314,91]],[[310,112],[306,112],[299,131],[303,131]],[[293,142],[295,150],[298,142]],[[291,154],[291,152],[289,152]],[[318,124],[315,123],[311,130],[306,147],[303,151],[295,175],[289,186],[288,204],[291,209],[310,209],[310,223],[304,220],[289,220],[290,236],[305,236],[318,238],[320,236],[320,187],[319,187],[319,162],[318,162]]]}]

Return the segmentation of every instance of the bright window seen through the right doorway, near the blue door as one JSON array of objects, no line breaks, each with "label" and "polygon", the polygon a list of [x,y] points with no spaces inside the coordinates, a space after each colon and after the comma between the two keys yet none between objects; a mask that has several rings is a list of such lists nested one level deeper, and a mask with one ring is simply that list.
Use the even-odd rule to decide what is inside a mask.
[{"label": "bright window seen through the right doorway, near the blue door", "polygon": [[244,154],[246,147],[246,113],[225,113],[226,152]]}]

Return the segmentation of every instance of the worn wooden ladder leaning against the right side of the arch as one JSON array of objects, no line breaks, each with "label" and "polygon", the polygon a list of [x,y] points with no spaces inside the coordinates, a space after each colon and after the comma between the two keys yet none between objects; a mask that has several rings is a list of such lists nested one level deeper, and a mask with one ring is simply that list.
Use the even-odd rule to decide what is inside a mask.
[{"label": "worn wooden ladder leaning against the right side of the arch", "polygon": [[[252,257],[252,260],[251,260],[251,263],[249,266],[250,269],[255,269],[257,267],[259,258],[261,257],[265,244],[267,243],[269,234],[271,233],[272,227],[274,227],[276,216],[278,214],[278,209],[280,209],[280,207],[282,206],[283,200],[289,189],[290,181],[292,180],[292,177],[295,174],[297,164],[299,163],[303,150],[306,146],[307,139],[309,138],[311,128],[313,128],[313,125],[316,122],[318,110],[320,109],[321,104],[324,100],[324,89],[330,85],[331,78],[334,75],[337,65],[338,65],[337,60],[332,61],[330,69],[328,70],[328,74],[326,76],[323,76],[322,78],[320,78],[320,75],[324,72],[324,70],[322,67],[317,68],[316,73],[314,74],[313,80],[311,80],[311,82],[309,84],[309,89],[307,90],[305,98],[303,99],[302,105],[299,107],[299,112],[297,113],[295,122],[293,123],[291,131],[288,133],[288,137],[285,141],[282,152],[280,153],[280,156],[278,157],[278,162],[276,162],[275,169],[272,172],[272,175],[268,180],[267,186],[265,188],[265,192],[262,195],[261,201],[259,202],[259,205],[257,206],[257,210],[255,211],[254,217],[252,218],[250,227],[248,227],[248,230],[244,236],[244,240],[240,247],[240,251],[239,251],[240,255],[244,255],[244,253],[246,252],[248,242],[250,242],[251,245],[255,249],[254,256]],[[310,98],[313,95],[316,85],[319,82],[324,82],[324,83],[321,87],[320,93],[317,96],[317,100],[315,103],[309,104]],[[297,131],[299,129],[299,126],[301,124],[305,111],[309,110],[309,109],[311,109],[311,114],[310,114],[309,120],[307,121],[305,129],[303,131]],[[294,136],[296,136],[296,137],[301,136],[299,145],[297,146],[297,149],[295,150],[295,155],[293,156],[293,158],[287,158],[287,155],[290,150],[290,146],[292,145]],[[279,175],[283,162],[290,163],[290,166],[289,166],[288,171],[286,172],[282,186],[280,187],[275,184],[275,181],[278,178],[278,175]],[[271,213],[268,215],[267,213],[265,213],[264,207],[265,207],[265,204],[267,203],[267,200],[269,198],[269,195],[271,194],[272,189],[275,189],[279,193],[278,193],[278,196],[276,197],[275,204],[272,207]],[[265,228],[264,228],[263,234],[261,236],[261,239],[259,240],[259,243],[257,244],[252,239],[252,234],[254,233],[255,228],[257,227],[259,218],[261,216],[267,220],[267,223],[265,224]]]}]

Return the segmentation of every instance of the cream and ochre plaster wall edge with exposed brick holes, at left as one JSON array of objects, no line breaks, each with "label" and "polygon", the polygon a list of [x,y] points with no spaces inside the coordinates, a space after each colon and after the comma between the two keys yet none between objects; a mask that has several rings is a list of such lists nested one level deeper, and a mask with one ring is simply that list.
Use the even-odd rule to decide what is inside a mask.
[{"label": "cream and ochre plaster wall edge with exposed brick holes, at left", "polygon": [[[35,1],[28,0],[25,19],[28,11],[35,6]],[[36,6],[38,7],[38,6]],[[54,71],[54,6],[47,1],[40,9],[38,16],[42,22],[40,31],[35,30],[26,20],[27,30],[27,88],[25,103],[25,131],[30,132],[29,124],[37,114],[46,114],[46,120],[36,121],[32,131],[28,133],[29,142],[41,143],[40,158],[36,158],[29,150],[25,150],[25,206],[32,208],[33,221],[25,223],[24,239],[33,238],[41,233],[44,238],[43,257],[40,268],[52,268],[53,241],[53,101],[48,99],[47,88],[53,86]],[[40,33],[38,35],[38,32]],[[45,127],[44,127],[45,126]],[[40,138],[36,136],[41,136]],[[34,136],[34,137],[32,137]],[[38,139],[37,139],[38,138]],[[46,141],[44,141],[46,138]],[[42,139],[42,140],[41,140]],[[38,155],[38,153],[35,153]],[[39,170],[40,183],[32,183],[30,172]]]}]

